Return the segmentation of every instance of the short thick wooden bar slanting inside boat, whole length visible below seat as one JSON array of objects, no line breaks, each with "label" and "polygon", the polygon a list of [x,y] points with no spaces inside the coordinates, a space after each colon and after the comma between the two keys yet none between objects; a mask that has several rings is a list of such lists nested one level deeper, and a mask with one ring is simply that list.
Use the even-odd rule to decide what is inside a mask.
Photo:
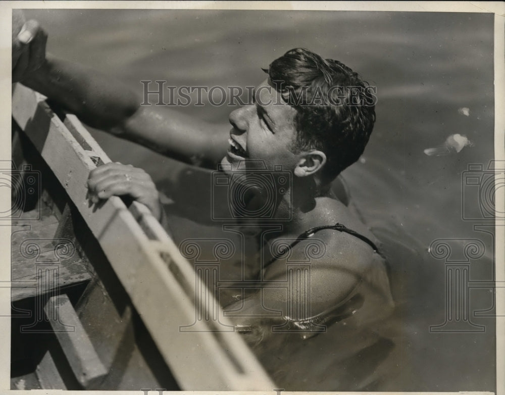
[{"label": "short thick wooden bar slanting inside boat, whole length visible below seat", "polygon": [[44,311],[77,381],[84,388],[98,384],[106,376],[107,369],[98,358],[67,295],[50,298]]}]

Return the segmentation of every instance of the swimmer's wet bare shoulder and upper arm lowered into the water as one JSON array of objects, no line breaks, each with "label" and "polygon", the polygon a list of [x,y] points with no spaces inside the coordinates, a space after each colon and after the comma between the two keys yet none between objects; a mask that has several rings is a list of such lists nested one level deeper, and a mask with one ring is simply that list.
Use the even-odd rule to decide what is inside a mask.
[{"label": "swimmer's wet bare shoulder and upper arm lowered into the water", "polygon": [[[326,236],[324,232],[327,232]],[[381,306],[377,317],[388,314],[391,308],[389,281],[382,261],[370,246],[348,234],[332,234],[329,230],[323,230],[318,235],[324,240],[326,253],[321,258],[311,259],[307,277],[297,277],[296,280],[292,278],[289,281],[286,262],[273,262],[266,268],[264,280],[270,283],[277,281],[279,284],[284,282],[288,288],[265,287],[248,298],[227,305],[225,311],[229,311],[230,320],[239,327],[268,327],[282,321],[289,312],[295,312],[295,315],[308,313],[309,306],[310,316],[290,318],[313,318],[340,306],[362,284],[368,288],[369,297],[374,293],[374,301]],[[290,258],[300,261],[307,259],[306,250],[309,245],[301,242],[297,244]],[[261,284],[258,286],[261,287]],[[266,317],[264,308],[281,311],[281,317]],[[233,316],[233,311],[239,311],[240,315]]]}]

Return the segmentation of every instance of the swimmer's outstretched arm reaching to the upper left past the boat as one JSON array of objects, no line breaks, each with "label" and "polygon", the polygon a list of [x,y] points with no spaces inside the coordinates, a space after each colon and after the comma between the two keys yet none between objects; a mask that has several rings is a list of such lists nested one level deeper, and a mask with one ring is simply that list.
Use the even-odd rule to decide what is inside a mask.
[{"label": "swimmer's outstretched arm reaching to the upper left past the boat", "polygon": [[[218,163],[226,153],[224,126],[168,108],[140,106],[142,98],[121,82],[79,64],[45,57],[45,33],[35,21],[25,26],[24,36],[13,39],[13,48],[22,54],[16,61],[13,54],[13,76],[24,85],[76,114],[89,126],[181,161]],[[27,37],[30,34],[32,38]]]}]

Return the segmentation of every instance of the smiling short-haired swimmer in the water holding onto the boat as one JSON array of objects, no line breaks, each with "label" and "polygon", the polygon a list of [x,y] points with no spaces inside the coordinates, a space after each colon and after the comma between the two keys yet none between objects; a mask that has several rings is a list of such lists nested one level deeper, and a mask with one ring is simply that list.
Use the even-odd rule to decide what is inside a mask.
[{"label": "smiling short-haired swimmer in the water holding onto the boat", "polygon": [[[256,87],[255,102],[230,114],[228,131],[171,109],[140,106],[137,94],[109,77],[46,57],[45,42],[35,21],[15,36],[13,82],[41,92],[88,125],[186,163],[212,164],[213,169],[221,164],[232,175],[243,172],[245,186],[257,163],[272,172],[280,166],[290,174],[291,186],[276,189],[271,219],[279,219],[282,226],[262,240],[258,278],[265,283],[285,281],[286,260],[272,248],[283,240],[289,240],[291,261],[306,259],[304,242],[314,234],[324,253],[311,259],[308,288],[295,284],[290,292],[264,292],[259,286],[229,307],[240,309],[241,317],[234,320],[237,328],[257,335],[252,335],[252,342],[272,337],[273,332],[265,330],[272,323],[287,322],[307,338],[307,333],[319,333],[327,324],[358,325],[391,311],[385,263],[374,236],[330,189],[335,177],[359,159],[375,122],[373,97],[357,73],[308,50],[288,51],[266,70],[268,78]],[[88,187],[95,203],[129,195],[163,219],[156,186],[141,169],[119,163],[100,166],[91,171]],[[255,199],[261,200],[261,193],[253,203]],[[306,289],[309,306],[294,310],[303,308],[310,314],[286,311]],[[268,318],[262,316],[265,307],[284,313]],[[263,329],[255,332],[258,327]]]}]

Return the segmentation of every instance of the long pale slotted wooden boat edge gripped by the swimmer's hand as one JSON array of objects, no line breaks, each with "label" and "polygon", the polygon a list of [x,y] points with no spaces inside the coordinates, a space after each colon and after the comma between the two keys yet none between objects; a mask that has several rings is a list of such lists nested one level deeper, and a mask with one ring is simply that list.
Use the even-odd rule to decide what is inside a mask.
[{"label": "long pale slotted wooden boat edge gripped by the swimmer's hand", "polygon": [[[132,204],[137,208],[132,211],[141,218],[141,227],[118,197],[99,206],[89,204],[85,182],[95,167],[94,162],[42,99],[18,85],[13,95],[13,117],[54,171],[102,246],[181,388],[275,388],[237,333],[216,332],[205,321],[195,322],[194,332],[180,330],[195,320],[195,299],[211,301],[214,308],[217,301],[163,227],[142,205]],[[33,105],[37,101],[38,105]],[[109,159],[89,138],[86,141],[93,155],[99,154],[107,163]],[[221,322],[229,329],[231,324],[218,310]]]}]

